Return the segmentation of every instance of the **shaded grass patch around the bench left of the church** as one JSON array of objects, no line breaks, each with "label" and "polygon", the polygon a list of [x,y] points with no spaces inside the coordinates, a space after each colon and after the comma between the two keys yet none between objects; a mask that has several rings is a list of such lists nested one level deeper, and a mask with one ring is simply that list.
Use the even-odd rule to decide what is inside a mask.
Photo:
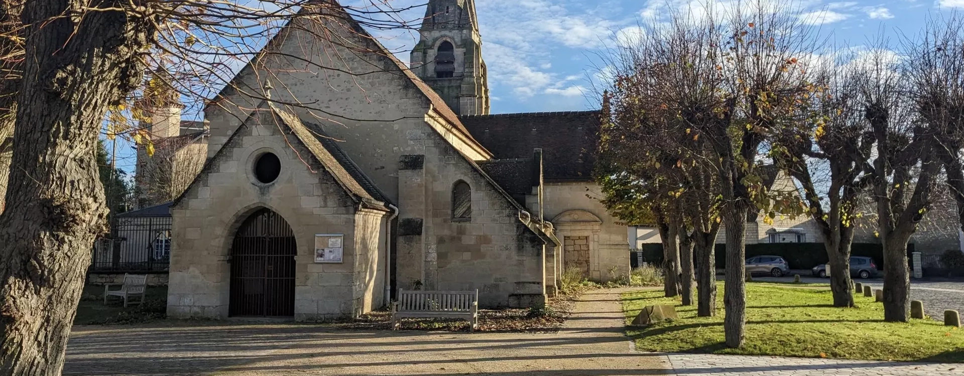
[{"label": "shaded grass patch around the bench left of the church", "polygon": [[[118,287],[113,287],[117,289]],[[164,318],[167,311],[168,288],[147,287],[144,305],[128,304],[123,308],[123,299],[117,296],[108,298],[104,305],[104,287],[88,285],[77,305],[74,325],[94,324],[133,324]],[[135,298],[135,300],[140,298]]]}]

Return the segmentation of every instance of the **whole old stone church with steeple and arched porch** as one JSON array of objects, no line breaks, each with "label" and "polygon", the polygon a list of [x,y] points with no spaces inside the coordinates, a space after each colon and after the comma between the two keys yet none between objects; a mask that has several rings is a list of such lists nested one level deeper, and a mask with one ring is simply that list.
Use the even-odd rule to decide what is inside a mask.
[{"label": "whole old stone church with steeple and arched porch", "polygon": [[566,269],[629,272],[591,176],[598,113],[491,114],[472,0],[429,1],[420,33],[406,65],[350,17],[293,20],[207,106],[171,316],[355,316],[398,288],[531,307]]}]

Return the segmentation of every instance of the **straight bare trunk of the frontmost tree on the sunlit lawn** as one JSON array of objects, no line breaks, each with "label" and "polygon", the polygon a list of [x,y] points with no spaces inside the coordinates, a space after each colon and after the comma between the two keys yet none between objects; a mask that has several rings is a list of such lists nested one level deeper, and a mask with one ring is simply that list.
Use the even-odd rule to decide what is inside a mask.
[{"label": "straight bare trunk of the frontmost tree on the sunlit lawn", "polygon": [[[732,202],[732,201],[731,201]],[[746,330],[746,213],[745,206],[732,202],[723,214],[726,224],[726,283],[723,287],[723,332],[726,345],[743,345]]]}]

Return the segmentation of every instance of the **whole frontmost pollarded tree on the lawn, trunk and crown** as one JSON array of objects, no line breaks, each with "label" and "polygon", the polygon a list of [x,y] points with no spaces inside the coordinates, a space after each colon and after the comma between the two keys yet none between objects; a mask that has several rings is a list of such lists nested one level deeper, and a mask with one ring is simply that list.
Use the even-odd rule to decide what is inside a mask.
[{"label": "whole frontmost pollarded tree on the lawn, trunk and crown", "polygon": [[818,47],[813,28],[790,6],[758,0],[734,8],[716,59],[727,72],[727,90],[721,95],[728,104],[700,129],[710,138],[710,162],[720,173],[727,239],[724,333],[729,347],[743,344],[746,326],[747,213],[753,206],[794,206],[790,200],[767,196],[757,169],[761,150],[775,129],[799,121],[796,107],[810,92],[808,67],[800,59],[813,56]]}]

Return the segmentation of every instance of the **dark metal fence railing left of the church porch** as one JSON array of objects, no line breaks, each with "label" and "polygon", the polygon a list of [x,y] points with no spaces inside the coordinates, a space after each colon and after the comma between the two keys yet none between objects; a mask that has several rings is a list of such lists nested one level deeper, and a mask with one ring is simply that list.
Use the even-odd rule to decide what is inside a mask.
[{"label": "dark metal fence railing left of the church porch", "polygon": [[94,244],[93,271],[164,271],[171,260],[171,217],[120,217],[111,238]]}]

